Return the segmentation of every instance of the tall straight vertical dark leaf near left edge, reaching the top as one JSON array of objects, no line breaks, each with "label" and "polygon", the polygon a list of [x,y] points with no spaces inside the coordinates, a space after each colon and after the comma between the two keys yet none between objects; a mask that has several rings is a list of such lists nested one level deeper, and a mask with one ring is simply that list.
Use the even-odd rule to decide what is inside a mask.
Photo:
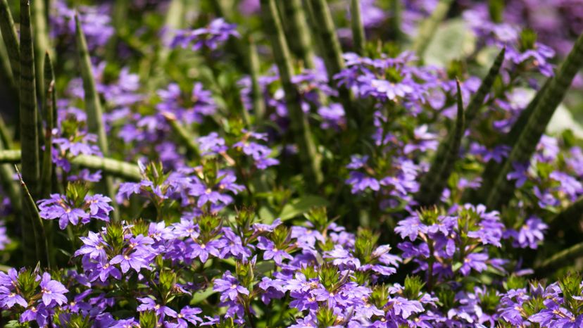
[{"label": "tall straight vertical dark leaf near left edge, reaching the top", "polygon": [[[37,122],[35,52],[30,27],[30,1],[20,0],[20,144],[25,154],[21,158],[21,163],[23,181],[33,196],[38,195],[40,180]],[[22,201],[24,263],[33,265],[36,262],[35,253],[30,250],[35,249],[35,239],[29,232],[34,229],[35,217],[26,209],[26,197],[23,197]]]}]

